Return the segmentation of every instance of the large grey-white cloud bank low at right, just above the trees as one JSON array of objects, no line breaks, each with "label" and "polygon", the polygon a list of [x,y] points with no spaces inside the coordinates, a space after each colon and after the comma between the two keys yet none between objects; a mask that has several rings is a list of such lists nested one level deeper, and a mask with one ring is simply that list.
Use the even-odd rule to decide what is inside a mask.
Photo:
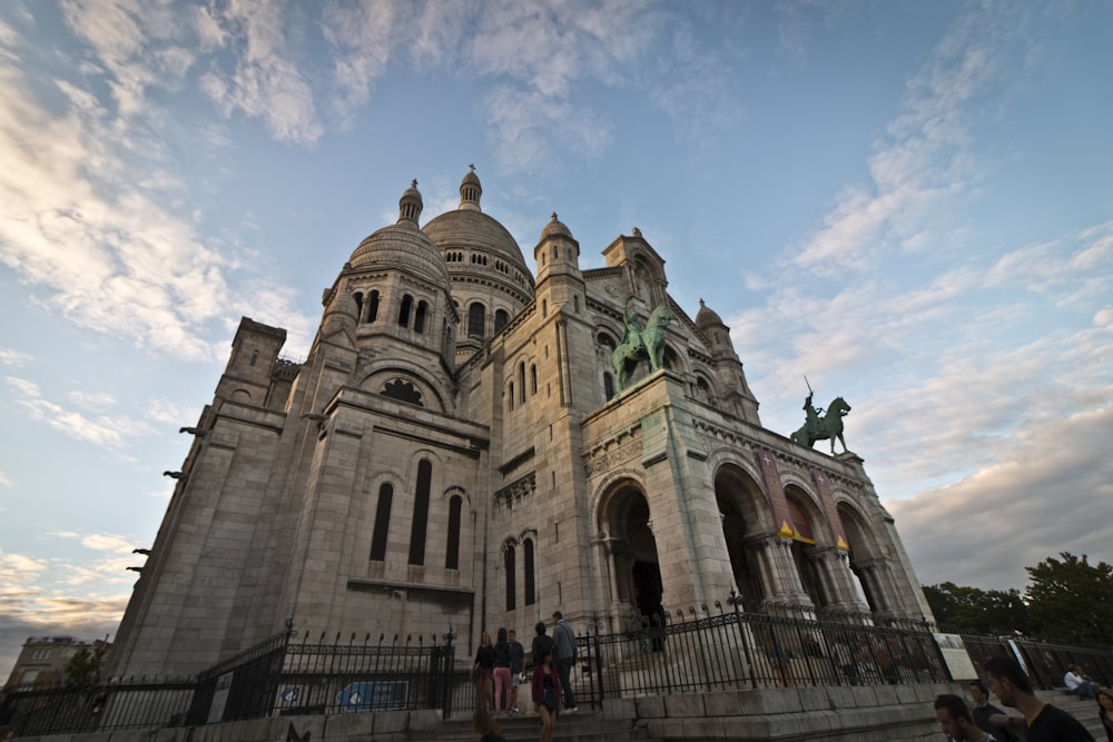
[{"label": "large grey-white cloud bank low at right, just above the trees", "polygon": [[1020,428],[1018,445],[953,485],[889,503],[926,584],[1023,588],[1034,566],[1068,551],[1110,561],[1113,407]]}]

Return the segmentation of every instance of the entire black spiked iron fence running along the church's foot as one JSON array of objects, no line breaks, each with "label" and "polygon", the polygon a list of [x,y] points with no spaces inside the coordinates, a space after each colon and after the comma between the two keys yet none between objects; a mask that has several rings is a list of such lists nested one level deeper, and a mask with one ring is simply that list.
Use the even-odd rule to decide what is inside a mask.
[{"label": "entire black spiked iron fence running along the church's foot", "polygon": [[[577,626],[572,683],[580,704],[608,699],[730,689],[877,685],[952,680],[934,626],[876,615],[781,604],[743,609],[737,596],[643,619],[633,631],[601,621]],[[387,639],[311,637],[282,632],[196,679],[114,680],[95,687],[9,689],[0,724],[18,736],[196,726],[283,714],[436,709],[471,713],[471,656],[456,659],[452,633]],[[1113,651],[1014,637],[963,636],[975,669],[993,656],[1024,663],[1044,689],[1083,665],[1113,684]],[[532,704],[529,679],[519,706]]]}]

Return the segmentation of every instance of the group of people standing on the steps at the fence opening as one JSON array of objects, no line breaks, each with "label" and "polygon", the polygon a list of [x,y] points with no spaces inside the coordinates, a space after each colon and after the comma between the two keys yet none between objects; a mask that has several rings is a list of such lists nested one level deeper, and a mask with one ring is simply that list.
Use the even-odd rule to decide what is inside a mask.
[{"label": "group of people standing on the steps at the fence opening", "polygon": [[[564,621],[560,611],[553,612],[553,632],[543,621],[534,626],[535,635],[531,660],[533,672],[530,698],[541,719],[541,742],[551,742],[556,729],[556,715],[575,713],[575,693],[571,672],[577,661],[575,632]],[[482,742],[503,739],[496,719],[518,715],[518,687],[525,683],[525,647],[518,641],[514,630],[500,629],[496,640],[483,632],[472,675],[476,682],[476,709],[472,715],[475,730],[483,734]],[[493,714],[493,715],[492,715]]]}]

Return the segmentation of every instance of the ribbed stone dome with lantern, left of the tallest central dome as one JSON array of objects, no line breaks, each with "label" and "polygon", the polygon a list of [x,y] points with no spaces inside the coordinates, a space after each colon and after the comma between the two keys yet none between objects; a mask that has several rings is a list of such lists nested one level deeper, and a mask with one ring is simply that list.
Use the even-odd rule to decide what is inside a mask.
[{"label": "ribbed stone dome with lantern, left of the tallest central dome", "polygon": [[384,268],[408,268],[437,286],[447,287],[449,268],[441,251],[417,228],[421,211],[421,192],[414,180],[398,200],[398,221],[376,230],[359,243],[348,259],[351,267],[367,269],[381,265]]}]

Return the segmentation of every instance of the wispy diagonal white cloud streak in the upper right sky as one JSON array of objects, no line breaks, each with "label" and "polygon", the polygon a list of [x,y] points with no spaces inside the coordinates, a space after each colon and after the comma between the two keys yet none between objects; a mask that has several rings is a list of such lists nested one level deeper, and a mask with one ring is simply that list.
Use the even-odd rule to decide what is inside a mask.
[{"label": "wispy diagonal white cloud streak in the upper right sky", "polygon": [[[1022,8],[977,8],[959,19],[907,85],[904,113],[869,162],[871,180],[849,186],[795,261],[812,270],[863,270],[886,251],[946,244],[956,197],[981,177],[974,128],[1016,85],[1030,44]],[[1018,61],[1020,60],[1020,61]]]}]

